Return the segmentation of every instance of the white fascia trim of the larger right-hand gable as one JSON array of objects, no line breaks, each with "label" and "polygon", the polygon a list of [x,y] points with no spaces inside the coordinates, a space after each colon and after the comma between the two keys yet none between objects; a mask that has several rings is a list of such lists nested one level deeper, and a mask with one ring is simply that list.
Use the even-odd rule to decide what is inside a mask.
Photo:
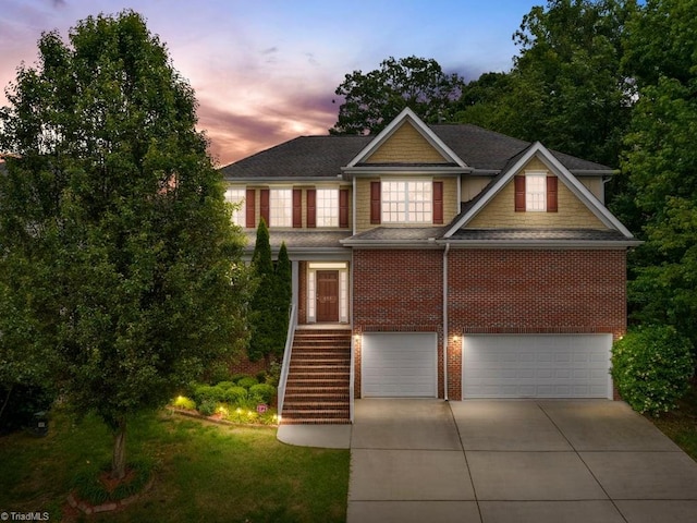
[{"label": "white fascia trim of the larger right-hand gable", "polygon": [[523,167],[530,161],[534,156],[538,158],[559,178],[568,190],[574,193],[590,211],[607,227],[615,229],[627,239],[634,235],[617,220],[608,208],[600,203],[594,194],[580,183],[541,143],[535,142],[528,150],[505,172],[503,177],[479,199],[465,215],[457,220],[444,234],[444,238],[452,236],[455,231],[472,220],[510,181],[519,172]]}]

